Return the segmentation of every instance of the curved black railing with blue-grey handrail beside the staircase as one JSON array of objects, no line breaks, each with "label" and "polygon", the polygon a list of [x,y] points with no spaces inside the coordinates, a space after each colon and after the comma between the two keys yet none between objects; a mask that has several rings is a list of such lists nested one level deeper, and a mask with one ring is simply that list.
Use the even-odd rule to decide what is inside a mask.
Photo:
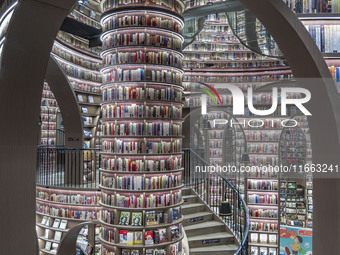
[{"label": "curved black railing with blue-grey handrail beside the staircase", "polygon": [[[234,233],[240,247],[235,254],[248,255],[249,210],[239,191],[226,177],[209,172],[209,164],[194,150],[184,151],[184,181]],[[220,216],[222,202],[229,203],[230,216]]]}]

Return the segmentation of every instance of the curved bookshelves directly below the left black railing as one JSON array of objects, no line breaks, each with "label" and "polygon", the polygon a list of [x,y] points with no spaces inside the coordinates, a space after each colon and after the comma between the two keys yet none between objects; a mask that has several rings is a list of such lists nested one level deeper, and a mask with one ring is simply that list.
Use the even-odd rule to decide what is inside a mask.
[{"label": "curved bookshelves directly below the left black railing", "polygon": [[[36,188],[36,230],[40,254],[56,254],[65,233],[80,222],[97,220],[100,192],[97,190]],[[85,232],[79,237],[84,243]],[[96,248],[99,251],[99,247]],[[98,253],[95,253],[98,254]]]}]

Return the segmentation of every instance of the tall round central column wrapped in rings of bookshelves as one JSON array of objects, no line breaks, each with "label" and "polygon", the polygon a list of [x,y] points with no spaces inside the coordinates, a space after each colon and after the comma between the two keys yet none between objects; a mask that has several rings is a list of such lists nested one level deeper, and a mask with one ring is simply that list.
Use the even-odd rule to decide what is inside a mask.
[{"label": "tall round central column wrapped in rings of bookshelves", "polygon": [[169,2],[104,3],[102,254],[182,251],[184,22]]}]

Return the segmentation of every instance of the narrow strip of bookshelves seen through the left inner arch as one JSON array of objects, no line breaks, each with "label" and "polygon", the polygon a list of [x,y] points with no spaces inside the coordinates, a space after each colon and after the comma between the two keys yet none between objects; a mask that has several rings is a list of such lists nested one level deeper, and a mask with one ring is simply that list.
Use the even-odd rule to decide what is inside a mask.
[{"label": "narrow strip of bookshelves seen through the left inner arch", "polygon": [[58,103],[47,82],[44,82],[40,107],[40,145],[54,147],[57,145]]}]

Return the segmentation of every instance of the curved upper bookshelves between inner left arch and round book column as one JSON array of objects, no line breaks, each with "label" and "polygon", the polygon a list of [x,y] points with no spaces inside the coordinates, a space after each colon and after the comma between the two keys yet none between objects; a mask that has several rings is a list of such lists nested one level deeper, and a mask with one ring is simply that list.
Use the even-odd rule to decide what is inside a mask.
[{"label": "curved upper bookshelves between inner left arch and round book column", "polygon": [[[82,13],[80,10],[83,10]],[[79,4],[70,15],[75,15],[76,19],[81,19],[87,24],[92,19],[86,15],[91,13],[98,18],[95,11]],[[88,25],[100,26],[100,23],[95,25],[91,22]],[[102,60],[99,48],[89,48],[88,45],[88,40],[60,31],[52,48],[52,56],[65,71],[76,94],[82,115],[84,148],[96,148],[98,147],[96,137],[102,97],[100,89],[102,76],[99,72]]]}]

